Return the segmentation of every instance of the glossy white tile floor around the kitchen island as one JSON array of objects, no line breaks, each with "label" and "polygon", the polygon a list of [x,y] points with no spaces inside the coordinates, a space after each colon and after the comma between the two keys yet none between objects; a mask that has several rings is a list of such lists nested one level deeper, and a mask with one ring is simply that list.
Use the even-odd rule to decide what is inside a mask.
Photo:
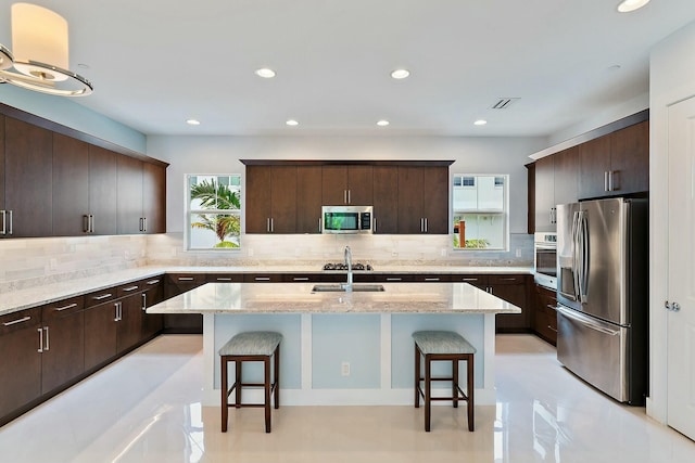
[{"label": "glossy white tile floor around the kitchen island", "polygon": [[695,442],[585,386],[527,335],[497,336],[497,404],[201,410],[202,338],[160,336],[0,428],[0,461],[23,462],[688,462]]}]

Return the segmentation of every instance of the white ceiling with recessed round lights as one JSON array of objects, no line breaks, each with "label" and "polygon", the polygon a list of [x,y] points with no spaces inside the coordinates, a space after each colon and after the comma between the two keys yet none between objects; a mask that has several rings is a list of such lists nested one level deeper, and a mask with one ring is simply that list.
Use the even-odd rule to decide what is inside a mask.
[{"label": "white ceiling with recessed round lights", "polygon": [[[647,92],[649,49],[695,21],[694,0],[618,2],[35,1],[68,21],[71,70],[94,85],[76,103],[146,134],[220,136],[552,134]],[[491,110],[503,97],[520,100]]]}]

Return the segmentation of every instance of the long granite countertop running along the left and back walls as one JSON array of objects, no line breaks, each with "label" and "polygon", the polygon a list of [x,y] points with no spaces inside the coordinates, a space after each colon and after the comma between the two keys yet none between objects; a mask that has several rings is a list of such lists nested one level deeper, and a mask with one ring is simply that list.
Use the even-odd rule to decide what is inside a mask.
[{"label": "long granite countertop running along the left and back walls", "polygon": [[[320,265],[295,266],[244,266],[244,267],[139,267],[121,270],[94,276],[74,279],[64,282],[43,284],[25,290],[11,291],[0,294],[0,316],[16,312],[22,309],[50,304],[56,300],[101,291],[119,284],[129,283],[163,273],[323,273]],[[341,273],[340,270],[326,271],[326,273]],[[345,271],[342,271],[345,273]],[[460,274],[495,274],[495,273],[522,273],[532,274],[529,267],[454,267],[454,266],[383,266],[377,270],[361,273],[460,273]],[[268,283],[265,283],[268,284]],[[292,283],[296,284],[296,283]],[[433,283],[428,283],[433,284]]]}]

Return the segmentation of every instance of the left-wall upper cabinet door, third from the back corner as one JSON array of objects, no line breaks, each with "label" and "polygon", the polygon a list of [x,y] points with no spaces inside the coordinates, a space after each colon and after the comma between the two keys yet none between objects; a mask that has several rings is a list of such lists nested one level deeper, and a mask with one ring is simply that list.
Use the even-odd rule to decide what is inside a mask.
[{"label": "left-wall upper cabinet door, third from the back corner", "polygon": [[93,234],[116,234],[116,153],[89,145],[89,214]]}]

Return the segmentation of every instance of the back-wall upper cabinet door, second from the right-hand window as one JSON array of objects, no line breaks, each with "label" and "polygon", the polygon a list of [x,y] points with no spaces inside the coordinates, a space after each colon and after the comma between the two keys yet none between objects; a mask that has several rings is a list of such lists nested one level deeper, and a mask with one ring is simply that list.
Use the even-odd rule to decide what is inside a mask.
[{"label": "back-wall upper cabinet door, second from the right-hand window", "polygon": [[399,233],[422,233],[422,188],[420,167],[399,166]]}]

